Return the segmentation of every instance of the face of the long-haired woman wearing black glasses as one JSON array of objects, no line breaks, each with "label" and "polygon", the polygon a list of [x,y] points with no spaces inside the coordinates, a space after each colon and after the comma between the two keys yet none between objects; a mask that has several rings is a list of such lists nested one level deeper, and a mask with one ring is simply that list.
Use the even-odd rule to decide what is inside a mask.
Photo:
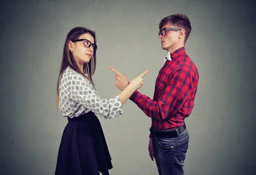
[{"label": "face of the long-haired woman wearing black glasses", "polygon": [[[87,39],[91,43],[94,43],[93,36],[89,33],[82,34],[78,39]],[[93,47],[85,47],[84,41],[77,41],[74,43],[70,42],[69,46],[69,49],[71,50],[76,63],[78,63],[80,66],[82,66],[84,63],[88,63],[93,56]]]}]

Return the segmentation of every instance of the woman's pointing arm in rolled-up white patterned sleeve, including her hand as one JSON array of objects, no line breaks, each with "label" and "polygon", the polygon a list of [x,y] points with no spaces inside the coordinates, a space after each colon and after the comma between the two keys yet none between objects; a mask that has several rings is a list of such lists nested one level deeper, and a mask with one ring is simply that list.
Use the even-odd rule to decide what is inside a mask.
[{"label": "woman's pointing arm in rolled-up white patterned sleeve, including her hand", "polygon": [[[122,115],[122,105],[133,92],[142,87],[142,77],[144,75],[145,73],[131,80],[123,92],[109,100],[101,99],[92,84],[81,75],[70,75],[67,77],[64,75],[64,86],[62,88],[65,90],[61,93],[61,97],[67,95],[68,98],[84,106],[84,110],[90,109],[90,111],[99,114],[103,118],[115,118]],[[71,104],[67,101],[66,105],[68,107]]]}]

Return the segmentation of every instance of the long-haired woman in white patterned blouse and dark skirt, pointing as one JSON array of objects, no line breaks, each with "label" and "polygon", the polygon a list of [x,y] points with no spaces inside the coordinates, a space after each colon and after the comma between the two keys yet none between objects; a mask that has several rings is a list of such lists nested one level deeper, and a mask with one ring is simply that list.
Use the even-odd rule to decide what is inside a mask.
[{"label": "long-haired woman in white patterned blouse and dark skirt, pointing", "polygon": [[93,85],[96,68],[95,32],[76,27],[64,45],[57,85],[58,109],[68,118],[58,151],[55,175],[108,175],[111,156],[95,114],[111,119],[122,115],[122,105],[136,89],[143,86],[143,76],[115,97],[101,99]]}]

